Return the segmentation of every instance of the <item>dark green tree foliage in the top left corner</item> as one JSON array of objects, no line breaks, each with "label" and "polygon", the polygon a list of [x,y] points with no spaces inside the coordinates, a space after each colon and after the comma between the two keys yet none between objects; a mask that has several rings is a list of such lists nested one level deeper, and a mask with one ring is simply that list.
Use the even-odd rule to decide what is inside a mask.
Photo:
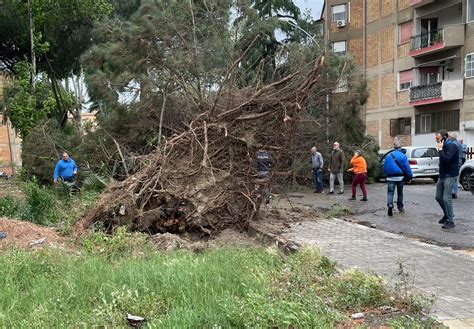
[{"label": "dark green tree foliage in the top left corner", "polygon": [[15,63],[30,58],[28,3],[34,19],[38,72],[48,72],[57,78],[78,70],[79,58],[91,44],[93,23],[114,9],[107,0],[3,1],[0,61],[15,73]]}]

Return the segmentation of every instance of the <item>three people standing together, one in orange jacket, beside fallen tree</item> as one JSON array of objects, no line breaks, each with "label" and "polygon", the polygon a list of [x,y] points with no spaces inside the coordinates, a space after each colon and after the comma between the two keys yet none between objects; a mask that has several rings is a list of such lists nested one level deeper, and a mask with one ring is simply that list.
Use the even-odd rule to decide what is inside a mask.
[{"label": "three people standing together, one in orange jacket, beside fallen tree", "polygon": [[[316,146],[311,148],[311,164],[312,173],[314,178],[314,193],[324,193],[323,188],[323,169],[324,159]],[[362,156],[360,151],[354,152],[353,157],[350,160],[352,165],[347,171],[352,172],[355,176],[352,180],[352,197],[350,200],[356,200],[357,186],[360,186],[362,190],[361,201],[368,201],[367,189],[365,188],[365,182],[367,180],[367,162]],[[334,194],[334,185],[337,178],[339,183],[338,194],[344,193],[344,170],[346,167],[346,160],[344,151],[341,149],[341,145],[338,142],[334,142],[333,150],[329,155],[329,192],[328,194]]]}]

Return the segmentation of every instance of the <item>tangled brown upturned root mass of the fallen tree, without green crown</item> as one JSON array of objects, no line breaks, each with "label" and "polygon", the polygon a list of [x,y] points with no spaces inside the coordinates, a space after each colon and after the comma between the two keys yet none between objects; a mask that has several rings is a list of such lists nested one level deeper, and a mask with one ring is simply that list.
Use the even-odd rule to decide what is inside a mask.
[{"label": "tangled brown upturned root mass of the fallen tree, without green crown", "polygon": [[[245,229],[258,215],[267,185],[288,174],[279,170],[290,159],[288,145],[323,64],[321,56],[257,89],[221,87],[184,132],[112,187],[82,225],[100,223],[108,232],[125,225],[150,234]],[[274,160],[269,180],[259,179],[255,169],[259,149]]]}]

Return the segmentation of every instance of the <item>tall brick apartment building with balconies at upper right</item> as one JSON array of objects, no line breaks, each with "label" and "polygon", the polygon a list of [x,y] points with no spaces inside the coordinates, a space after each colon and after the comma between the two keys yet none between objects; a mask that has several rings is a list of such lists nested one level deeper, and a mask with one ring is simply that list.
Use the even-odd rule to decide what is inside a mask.
[{"label": "tall brick apartment building with balconies at upper right", "polygon": [[367,133],[380,147],[433,145],[455,131],[474,145],[474,0],[327,0],[333,51],[366,76]]}]

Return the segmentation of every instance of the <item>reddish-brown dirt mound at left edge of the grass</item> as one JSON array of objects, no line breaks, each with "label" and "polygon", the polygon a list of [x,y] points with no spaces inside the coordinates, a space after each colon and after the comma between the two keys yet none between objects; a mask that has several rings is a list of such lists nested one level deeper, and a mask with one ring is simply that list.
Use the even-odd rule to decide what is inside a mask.
[{"label": "reddish-brown dirt mound at left edge of the grass", "polygon": [[64,238],[53,229],[40,227],[30,222],[0,218],[0,232],[6,237],[0,239],[0,250],[9,247],[36,249],[45,246],[63,246]]}]

